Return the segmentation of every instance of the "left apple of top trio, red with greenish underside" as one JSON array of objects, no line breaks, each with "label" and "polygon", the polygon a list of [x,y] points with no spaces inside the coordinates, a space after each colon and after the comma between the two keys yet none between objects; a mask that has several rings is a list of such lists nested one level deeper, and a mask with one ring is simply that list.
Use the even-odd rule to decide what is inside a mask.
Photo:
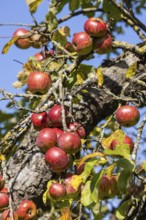
[{"label": "left apple of top trio, red with greenish underside", "polygon": [[72,39],[72,45],[78,55],[86,55],[93,49],[92,39],[86,32],[75,33]]}]

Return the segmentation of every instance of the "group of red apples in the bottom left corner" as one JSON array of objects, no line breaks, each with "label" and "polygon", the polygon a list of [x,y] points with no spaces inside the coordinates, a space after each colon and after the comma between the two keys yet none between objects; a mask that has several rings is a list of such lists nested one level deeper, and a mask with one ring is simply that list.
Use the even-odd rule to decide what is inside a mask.
[{"label": "group of red apples in the bottom left corner", "polygon": [[[12,220],[9,209],[9,192],[5,187],[5,180],[0,175],[0,211],[2,220]],[[37,216],[37,208],[33,201],[23,200],[16,211],[13,211],[14,220],[35,220]]]}]

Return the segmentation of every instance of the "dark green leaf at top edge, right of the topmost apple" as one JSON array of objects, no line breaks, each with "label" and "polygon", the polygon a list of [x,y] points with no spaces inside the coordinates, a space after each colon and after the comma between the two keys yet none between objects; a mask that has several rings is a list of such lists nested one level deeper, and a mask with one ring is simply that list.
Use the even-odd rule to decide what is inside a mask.
[{"label": "dark green leaf at top edge, right of the topmost apple", "polygon": [[103,0],[102,8],[108,17],[113,18],[115,21],[121,20],[121,11],[109,2],[109,0]]}]

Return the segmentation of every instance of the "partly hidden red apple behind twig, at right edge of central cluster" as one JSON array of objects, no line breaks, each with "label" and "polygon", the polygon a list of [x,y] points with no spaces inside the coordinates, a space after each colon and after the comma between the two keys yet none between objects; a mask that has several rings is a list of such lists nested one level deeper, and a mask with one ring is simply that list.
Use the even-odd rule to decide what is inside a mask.
[{"label": "partly hidden red apple behind twig, at right edge of central cluster", "polygon": [[80,136],[81,139],[85,138],[85,136],[86,136],[85,128],[80,123],[74,122],[72,124],[69,124],[68,128],[71,131],[76,132]]}]

